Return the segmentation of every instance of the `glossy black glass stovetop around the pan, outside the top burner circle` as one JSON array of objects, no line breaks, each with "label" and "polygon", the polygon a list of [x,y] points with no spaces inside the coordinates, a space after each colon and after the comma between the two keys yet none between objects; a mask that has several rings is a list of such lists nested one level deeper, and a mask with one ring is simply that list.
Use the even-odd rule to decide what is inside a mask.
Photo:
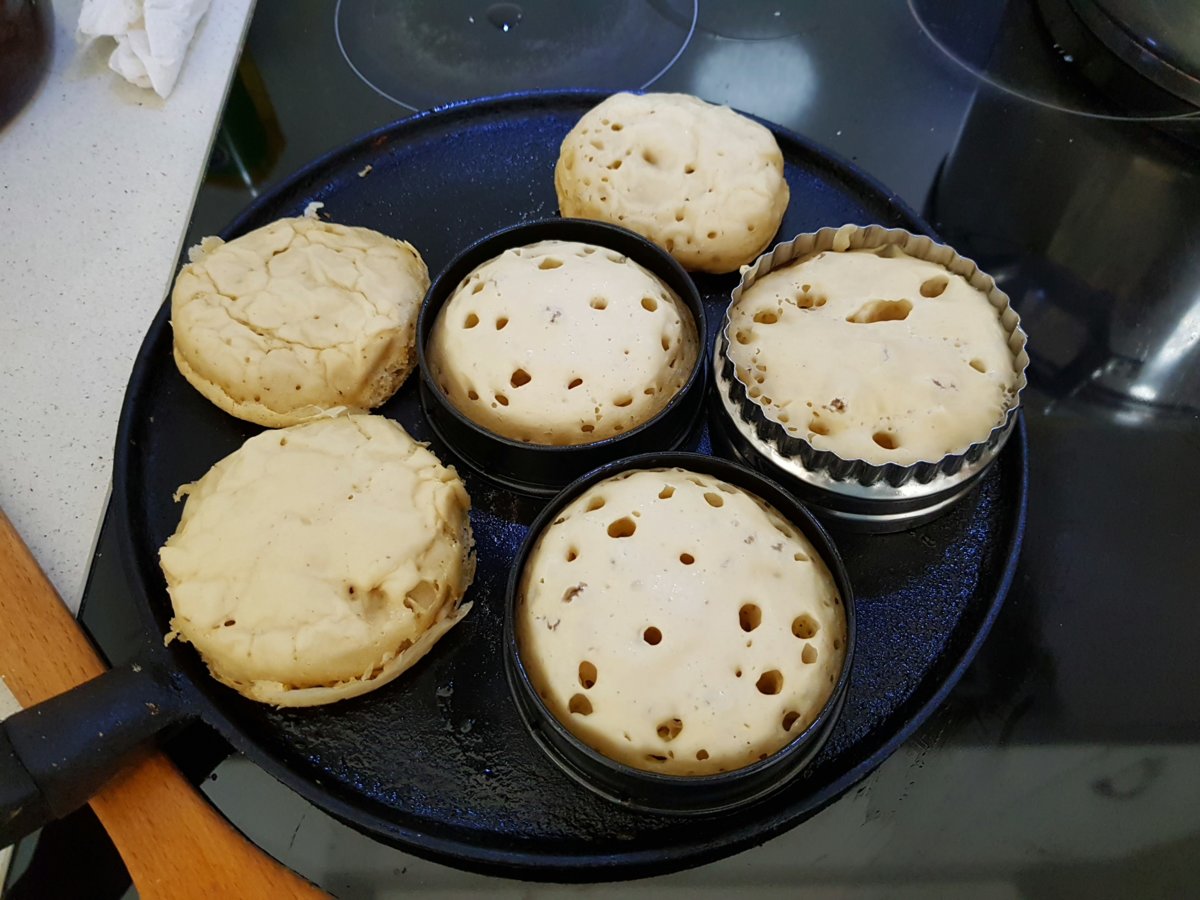
[{"label": "glossy black glass stovetop around the pan, outside the top burner circle", "polygon": [[[654,85],[853,160],[996,275],[1024,318],[1024,554],[983,652],[916,737],[757,850],[608,889],[414,859],[236,757],[205,782],[226,815],[340,896],[1200,892],[1200,154],[1189,143],[1200,125],[1186,108],[1147,121],[1102,91],[1056,44],[1045,6],[701,2],[690,43]],[[344,62],[332,4],[260,4],[188,242],[310,158],[406,114]],[[106,528],[83,619],[114,661],[136,643],[124,593]],[[197,769],[221,755],[203,732],[173,748]]]}]

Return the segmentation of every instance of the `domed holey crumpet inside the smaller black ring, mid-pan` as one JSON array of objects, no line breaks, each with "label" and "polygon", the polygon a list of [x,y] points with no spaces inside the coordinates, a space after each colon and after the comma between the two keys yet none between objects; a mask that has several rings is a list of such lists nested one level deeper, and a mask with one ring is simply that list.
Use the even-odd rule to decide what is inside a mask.
[{"label": "domed holey crumpet inside the smaller black ring, mid-pan", "polygon": [[433,380],[475,424],[568,445],[654,418],[700,350],[691,312],[653,272],[605,247],[540,241],[472,271],[426,352]]}]

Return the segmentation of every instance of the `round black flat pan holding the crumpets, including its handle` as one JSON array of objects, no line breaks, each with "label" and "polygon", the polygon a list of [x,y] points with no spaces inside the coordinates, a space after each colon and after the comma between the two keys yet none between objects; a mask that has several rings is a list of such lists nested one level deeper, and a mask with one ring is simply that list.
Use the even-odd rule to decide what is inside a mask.
[{"label": "round black flat pan holding the crumpets, including its handle", "polygon": [[[406,119],[306,167],[259,198],[224,236],[300,215],[308,202],[322,200],[334,221],[410,240],[437,272],[485,234],[553,215],[559,142],[601,96],[510,96]],[[862,172],[773,130],[792,190],[782,236],[845,222],[930,233]],[[695,281],[710,347],[736,276]],[[433,442],[444,461],[455,461],[452,448],[434,439],[421,415],[415,378],[380,412]],[[548,763],[527,733],[504,678],[504,581],[544,502],[474,473],[466,474],[479,552],[469,593],[475,607],[396,682],[329,707],[271,709],[209,678],[192,648],[164,648],[170,610],[156,554],[179,521],[172,493],[258,431],[211,406],[179,376],[168,312],[160,311],[130,380],[113,491],[130,589],[143,613],[142,662],[138,671],[116,670],[8,720],[10,727],[48,736],[44,746],[52,749],[24,763],[59,815],[84,802],[139,742],[198,718],[337,818],[451,865],[598,881],[712,862],[811,816],[928,718],[1000,608],[1025,521],[1021,422],[997,464],[943,518],[904,534],[834,533],[858,595],[858,649],[834,732],[812,766],[780,792],[734,812],[683,820],[592,794]],[[683,449],[712,452],[707,425]]]}]

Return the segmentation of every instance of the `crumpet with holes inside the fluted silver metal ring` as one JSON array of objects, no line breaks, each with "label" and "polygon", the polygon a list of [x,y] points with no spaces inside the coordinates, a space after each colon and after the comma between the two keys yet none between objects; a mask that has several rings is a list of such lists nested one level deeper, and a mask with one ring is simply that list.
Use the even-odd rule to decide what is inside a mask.
[{"label": "crumpet with holes inside the fluted silver metal ring", "polygon": [[877,466],[985,440],[1018,380],[986,294],[894,245],[768,272],[731,307],[727,330],[737,378],[768,419]]}]

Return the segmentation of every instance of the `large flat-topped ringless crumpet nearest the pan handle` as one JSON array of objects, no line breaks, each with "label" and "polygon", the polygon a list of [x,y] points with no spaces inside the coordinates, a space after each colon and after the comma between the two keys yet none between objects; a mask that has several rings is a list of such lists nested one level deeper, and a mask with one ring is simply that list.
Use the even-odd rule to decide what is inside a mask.
[{"label": "large flat-topped ringless crumpet nearest the pan handle", "polygon": [[469,610],[467,491],[390,419],[263,432],[178,496],[182,518],[160,551],[168,640],[251,700],[366,694]]}]

